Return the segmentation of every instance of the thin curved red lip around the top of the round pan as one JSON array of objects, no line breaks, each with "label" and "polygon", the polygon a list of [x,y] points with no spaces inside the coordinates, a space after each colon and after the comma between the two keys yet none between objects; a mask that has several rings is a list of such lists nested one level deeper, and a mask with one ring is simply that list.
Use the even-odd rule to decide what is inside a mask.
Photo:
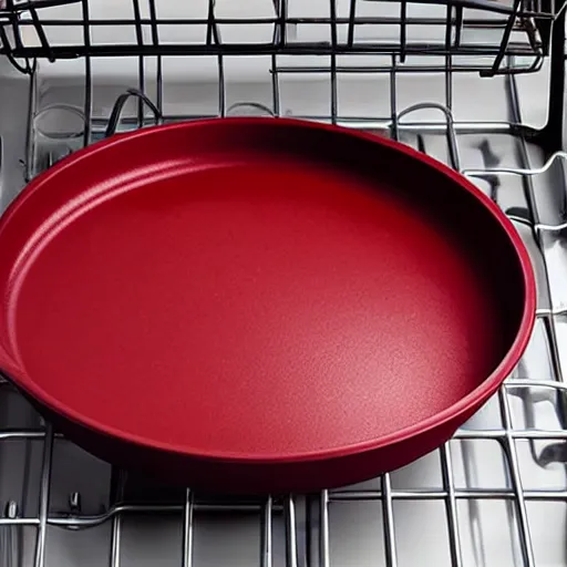
[{"label": "thin curved red lip around the top of the round pan", "polygon": [[[477,202],[480,202],[484,206],[486,212],[491,214],[492,217],[498,223],[499,227],[502,228],[502,230],[513,245],[513,249],[519,262],[524,285],[524,311],[522,313],[522,320],[516,337],[508,352],[502,359],[501,363],[496,367],[496,369],[477,388],[475,388],[466,396],[458,400],[458,402],[452,404],[442,412],[432,415],[431,417],[421,420],[393,433],[379,436],[370,441],[343,445],[328,450],[318,450],[297,454],[284,453],[272,455],[255,455],[243,454],[239,452],[231,453],[227,451],[203,451],[200,449],[195,450],[188,445],[154,441],[142,435],[136,435],[131,432],[125,432],[121,431],[120,429],[109,426],[105,423],[100,422],[97,420],[86,417],[82,415],[80,412],[68,406],[66,404],[61,403],[54,396],[51,396],[44,389],[34,383],[32,378],[28,377],[25,372],[19,368],[19,364],[14,364],[13,362],[11,362],[9,360],[9,355],[0,351],[0,368],[6,372],[6,375],[9,377],[16,383],[17,386],[20,386],[24,392],[27,392],[29,395],[35,399],[40,404],[45,406],[48,410],[55,412],[56,414],[61,415],[62,417],[71,422],[74,422],[81,426],[92,430],[95,433],[112,436],[117,440],[122,440],[126,443],[138,445],[141,447],[162,451],[166,453],[173,453],[181,456],[203,458],[209,461],[233,461],[243,464],[300,463],[340,458],[353,454],[372,452],[384,446],[402,443],[419,434],[431,432],[437,427],[442,427],[446,423],[453,421],[456,422],[460,416],[466,416],[468,411],[476,409],[483,402],[487,401],[488,398],[496,392],[496,390],[502,384],[504,379],[508,374],[511,374],[514,368],[516,367],[517,362],[519,361],[519,358],[522,357],[525,348],[527,347],[535,323],[536,284],[528,252],[512,221],[506,217],[506,215],[498,208],[498,206],[495,203],[493,203],[486,195],[484,195],[484,193],[482,193],[470,181],[467,181],[457,172],[451,169],[449,166],[399,142],[380,137],[377,136],[375,134],[353,131],[342,126],[321,124],[295,118],[274,117],[207,118],[194,122],[182,122],[162,126],[153,126],[143,130],[137,130],[135,132],[118,134],[75,152],[71,156],[65,157],[64,159],[59,162],[56,165],[54,165],[45,173],[34,178],[23,189],[19,197],[16,198],[14,202],[8,207],[4,215],[0,217],[0,237],[3,227],[11,221],[11,219],[17,215],[19,207],[32,194],[34,194],[38,190],[42,190],[42,187],[44,185],[55,183],[55,178],[61,171],[68,167],[76,167],[79,162],[83,159],[89,159],[90,156],[99,152],[111,151],[111,148],[112,151],[118,152],[120,146],[122,144],[127,144],[128,141],[132,138],[145,136],[150,138],[157,132],[163,133],[164,131],[168,130],[194,127],[221,128],[224,127],[224,125],[228,124],[231,124],[233,126],[247,126],[259,123],[264,123],[269,127],[291,126],[298,130],[298,135],[300,135],[301,130],[305,128],[318,128],[322,132],[329,133],[347,133],[349,136],[354,136],[359,140],[364,140],[372,144],[382,145],[396,152],[400,152],[402,154],[405,154],[408,157],[412,159],[416,159],[423,164],[429,165],[433,169],[449,177],[451,181],[455,183],[455,185],[460,186],[463,190],[468,192]],[[4,358],[7,358],[8,360],[2,360]]]}]

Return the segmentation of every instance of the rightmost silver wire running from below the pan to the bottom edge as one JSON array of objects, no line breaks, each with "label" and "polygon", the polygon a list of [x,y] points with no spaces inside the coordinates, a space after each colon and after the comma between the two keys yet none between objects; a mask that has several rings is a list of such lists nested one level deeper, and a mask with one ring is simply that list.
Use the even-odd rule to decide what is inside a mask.
[{"label": "rightmost silver wire running from below the pan to the bottom edge", "polygon": [[504,447],[509,465],[512,487],[515,494],[515,504],[517,511],[517,526],[519,532],[519,544],[522,555],[526,567],[535,567],[534,549],[532,548],[532,537],[529,535],[529,525],[527,520],[526,501],[524,498],[524,489],[522,486],[522,477],[519,474],[518,455],[516,452],[516,442],[513,439],[512,416],[508,403],[508,396],[504,388],[498,390],[498,401],[501,405],[502,421],[506,435],[504,437]]}]

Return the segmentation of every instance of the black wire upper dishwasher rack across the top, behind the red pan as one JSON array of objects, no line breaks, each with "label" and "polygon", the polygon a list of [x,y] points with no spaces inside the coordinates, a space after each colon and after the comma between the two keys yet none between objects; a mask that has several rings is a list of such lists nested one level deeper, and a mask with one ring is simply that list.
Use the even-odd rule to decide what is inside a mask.
[{"label": "black wire upper dishwasher rack across the top, behind the red pan", "polygon": [[[45,58],[382,54],[483,75],[529,73],[564,0],[0,0],[0,53]],[[120,32],[117,31],[120,30]],[[384,63],[391,66],[391,61]],[[422,71],[422,69],[419,69]]]}]

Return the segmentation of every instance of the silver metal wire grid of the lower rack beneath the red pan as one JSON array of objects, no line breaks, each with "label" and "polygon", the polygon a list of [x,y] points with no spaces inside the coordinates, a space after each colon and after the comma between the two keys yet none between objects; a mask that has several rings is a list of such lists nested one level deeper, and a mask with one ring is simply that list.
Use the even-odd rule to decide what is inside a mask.
[{"label": "silver metal wire grid of the lower rack beneath the red pan", "polygon": [[[223,71],[223,55],[218,55],[218,116],[225,116],[229,112],[226,107],[226,84]],[[158,58],[157,65],[157,97],[155,105],[159,112],[158,122],[168,120],[178,120],[184,116],[164,116],[163,114],[163,81],[162,81],[162,68],[161,58]],[[392,65],[388,70],[374,70],[374,72],[386,72],[390,76],[390,102],[391,102],[391,114],[385,116],[384,121],[378,121],[372,118],[368,122],[362,121],[361,123],[352,124],[346,117],[341,117],[338,114],[338,93],[337,93],[337,73],[339,69],[337,62],[331,58],[330,68],[321,68],[321,72],[330,73],[330,114],[327,116],[306,116],[311,120],[326,120],[331,123],[344,123],[354,126],[375,126],[386,130],[393,138],[399,138],[400,134],[404,131],[415,132],[417,130],[425,130],[431,132],[442,132],[446,134],[451,165],[461,171],[465,175],[471,177],[482,176],[494,176],[494,175],[519,175],[524,179],[524,184],[527,187],[528,205],[530,208],[530,217],[533,221],[519,219],[523,223],[528,224],[536,237],[536,241],[542,247],[542,237],[545,233],[557,231],[565,228],[564,225],[549,226],[539,221],[537,209],[534,205],[534,187],[532,184],[532,176],[537,175],[544,171],[544,168],[533,169],[528,163],[528,156],[526,145],[524,142],[520,144],[520,154],[523,167],[520,169],[482,169],[482,171],[462,171],[461,167],[461,155],[458,151],[457,136],[463,132],[517,132],[522,124],[519,115],[519,106],[516,92],[516,82],[514,76],[508,76],[508,91],[511,95],[511,102],[513,107],[513,116],[508,122],[498,123],[460,123],[452,117],[453,107],[453,75],[455,71],[453,69],[452,56],[447,56],[444,63],[445,72],[445,104],[419,104],[410,109],[400,110],[398,107],[396,96],[396,81],[403,71],[400,68],[399,58],[392,55]],[[138,73],[138,89],[141,92],[145,91],[145,74],[144,74],[144,58],[140,56],[140,73]],[[85,132],[84,132],[84,144],[91,143],[94,138],[99,137],[100,132],[104,132],[106,125],[96,125],[93,128],[93,116],[92,116],[92,99],[93,99],[93,86],[92,86],[92,73],[91,73],[91,61],[90,56],[85,58],[85,97],[84,97],[84,115],[85,115]],[[271,61],[271,80],[272,80],[272,105],[268,109],[276,116],[281,112],[280,104],[280,90],[279,90],[279,76],[280,73],[286,72],[277,64],[276,55],[272,56]],[[363,70],[361,72],[370,72]],[[35,75],[32,74],[32,83]],[[33,84],[32,84],[33,87]],[[137,96],[136,94],[133,94]],[[125,121],[126,127],[141,127],[147,123],[146,115],[143,109],[143,101],[140,100],[140,106],[137,117],[133,121]],[[439,122],[415,122],[408,121],[408,116],[416,110],[423,107],[435,107],[440,111],[442,120]],[[31,121],[30,121],[31,124]],[[31,125],[30,125],[31,128]],[[30,141],[33,136],[30,136]],[[29,156],[33,154],[33,148],[29,148]],[[563,158],[565,154],[557,154],[556,158]],[[30,159],[28,166],[30,167]],[[546,164],[546,167],[549,164]],[[30,175],[32,171],[30,169]],[[516,219],[518,220],[518,219]],[[545,256],[544,256],[545,258]],[[305,555],[301,551],[300,538],[301,535],[298,533],[297,522],[297,506],[298,503],[309,502],[311,506],[315,506],[317,513],[312,516],[311,520],[318,524],[318,540],[310,542],[310,548],[313,549],[312,557],[313,561],[310,564],[319,565],[320,567],[329,567],[331,564],[330,554],[330,532],[329,532],[329,508],[336,502],[344,501],[379,501],[382,506],[383,513],[383,536],[384,536],[384,553],[385,564],[389,567],[396,567],[399,564],[396,553],[396,535],[395,535],[395,523],[394,523],[394,503],[396,501],[440,501],[444,503],[445,514],[449,526],[449,543],[452,564],[456,567],[463,565],[462,549],[461,549],[461,537],[458,533],[457,523],[457,503],[466,499],[505,499],[513,504],[516,514],[516,526],[523,564],[527,567],[535,567],[534,549],[532,545],[532,538],[529,534],[529,526],[526,512],[526,503],[530,501],[567,501],[567,491],[550,491],[550,489],[525,489],[522,484],[519,465],[518,465],[518,453],[516,442],[519,440],[549,440],[557,443],[567,441],[566,431],[543,431],[543,430],[519,430],[515,429],[511,417],[511,405],[508,395],[513,391],[517,390],[540,390],[548,389],[557,393],[559,398],[563,398],[567,390],[567,384],[563,380],[563,372],[560,361],[558,357],[558,344],[557,337],[554,331],[555,329],[555,317],[563,315],[564,311],[557,311],[554,309],[538,309],[537,317],[545,322],[547,329],[548,339],[551,346],[551,358],[555,369],[556,381],[534,381],[534,380],[508,380],[498,393],[499,411],[502,415],[503,426],[494,430],[482,430],[482,431],[468,431],[460,430],[454,439],[457,440],[493,440],[502,446],[505,457],[506,467],[511,478],[511,488],[503,489],[480,489],[480,488],[467,488],[461,489],[455,486],[454,472],[452,467],[452,452],[451,443],[445,444],[440,450],[441,466],[442,466],[442,478],[443,486],[441,489],[395,489],[392,487],[390,474],[384,474],[381,478],[381,489],[360,489],[360,491],[322,491],[316,496],[305,495],[288,495],[284,498],[272,498],[270,496],[262,501],[247,501],[238,502],[234,499],[219,501],[218,498],[207,499],[197,497],[189,488],[185,492],[184,502],[181,504],[154,504],[154,505],[140,505],[121,502],[121,494],[125,476],[122,475],[122,481],[118,483],[117,501],[114,503],[104,514],[100,515],[82,515],[80,512],[79,496],[73,495],[72,508],[74,513],[71,515],[58,515],[50,513],[50,485],[51,475],[53,467],[53,445],[58,436],[58,433],[53,431],[50,424],[44,424],[40,429],[33,430],[10,430],[0,431],[0,443],[6,443],[12,440],[37,440],[43,444],[43,458],[41,467],[41,487],[40,487],[40,506],[39,513],[33,517],[23,517],[19,514],[18,506],[14,502],[8,503],[3,517],[0,517],[0,529],[6,527],[17,526],[32,526],[37,530],[35,536],[35,554],[33,567],[45,566],[45,540],[47,532],[49,526],[60,526],[65,528],[89,528],[101,525],[106,522],[112,522],[112,551],[110,558],[111,567],[120,567],[121,565],[121,544],[122,544],[122,520],[128,514],[135,513],[148,513],[154,515],[167,515],[167,514],[183,514],[183,542],[182,542],[182,566],[190,567],[194,565],[194,524],[195,524],[195,512],[198,509],[206,509],[210,512],[221,512],[226,509],[246,511],[252,509],[258,511],[260,517],[260,547],[258,549],[258,565],[261,567],[272,567],[274,565],[274,522],[275,515],[284,515],[285,527],[286,527],[286,564],[288,567],[298,567],[306,564]],[[4,381],[0,382],[0,388],[10,388]],[[122,487],[122,488],[121,488]],[[308,530],[310,533],[310,530]]]}]

